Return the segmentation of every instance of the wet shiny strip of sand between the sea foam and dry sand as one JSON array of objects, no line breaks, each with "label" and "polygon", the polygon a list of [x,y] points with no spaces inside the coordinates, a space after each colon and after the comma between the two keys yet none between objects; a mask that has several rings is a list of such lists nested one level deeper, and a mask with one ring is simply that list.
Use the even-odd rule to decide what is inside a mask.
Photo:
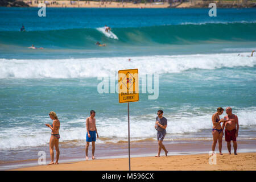
[{"label": "wet shiny strip of sand between the sea foam and dry sand", "polygon": [[[168,156],[180,156],[180,155],[204,155],[208,156],[211,149],[212,141],[183,141],[172,142],[164,141]],[[254,153],[256,156],[256,140],[239,140],[238,141],[238,155]],[[16,160],[15,162],[2,162],[0,163],[0,170],[22,170],[23,168],[40,168],[38,166],[38,151],[46,152],[46,164],[50,162],[48,146],[44,148],[35,148],[34,151],[30,151],[30,157],[33,159]],[[131,158],[154,158],[158,150],[158,144],[155,141],[131,143]],[[26,151],[27,152],[27,151]],[[54,151],[55,152],[55,151]],[[218,144],[216,145],[215,152],[218,154]],[[222,143],[222,153],[228,155],[226,148],[226,142]],[[232,145],[233,155],[233,145]],[[75,157],[74,157],[75,156]],[[89,161],[92,161],[91,145],[89,146]],[[115,159],[127,159],[128,158],[128,143],[115,143],[115,144],[97,144],[95,156],[97,160],[115,160]],[[160,154],[160,158],[165,158],[164,152]],[[55,153],[56,159],[56,153]],[[77,146],[73,148],[66,148],[60,146],[60,159],[59,164],[72,163],[72,162],[85,162],[85,146]],[[43,167],[44,168],[44,167]],[[256,169],[256,168],[255,168]],[[36,169],[37,170],[37,169]],[[39,169],[40,170],[40,169]],[[47,168],[46,168],[47,170]],[[59,169],[56,169],[59,170]],[[62,170],[62,169],[61,169]],[[65,170],[65,169],[63,169]],[[104,169],[102,169],[104,170]],[[114,170],[114,169],[113,169]],[[123,169],[126,170],[126,169]]]}]

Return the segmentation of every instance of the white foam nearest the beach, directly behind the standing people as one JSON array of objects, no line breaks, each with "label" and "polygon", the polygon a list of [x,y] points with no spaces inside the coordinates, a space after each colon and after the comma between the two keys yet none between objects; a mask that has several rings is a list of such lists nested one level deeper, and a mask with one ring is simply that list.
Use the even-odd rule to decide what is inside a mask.
[{"label": "white foam nearest the beach, directly behind the standing people", "polygon": [[[256,130],[256,107],[249,107],[244,110],[237,110],[236,113],[240,123],[240,136],[246,138],[255,138]],[[190,116],[189,116],[190,115]],[[223,118],[225,114],[220,117]],[[168,119],[167,137],[169,140],[175,134],[179,134],[180,138],[184,134],[187,138],[190,134],[194,138],[208,137],[211,138],[212,129],[212,114],[201,113],[193,116],[192,113],[180,113],[175,115],[165,113],[164,116]],[[61,115],[59,115],[61,117]],[[155,138],[156,130],[154,128],[155,115],[147,115],[147,117],[130,117],[130,138],[131,140],[140,140],[147,138]],[[97,118],[97,131],[100,139],[97,143],[118,142],[127,140],[127,118]],[[72,126],[72,127],[71,127]],[[247,129],[246,129],[247,128]],[[209,134],[202,133],[203,130],[209,130]],[[201,134],[200,134],[201,133]],[[27,147],[46,146],[49,143],[51,131],[47,127],[11,127],[9,129],[1,129],[0,133],[0,150],[20,149]],[[85,119],[75,119],[72,121],[61,122],[60,127],[60,142],[72,142],[75,144],[84,144],[79,142],[85,140],[86,128]],[[102,139],[101,139],[102,138]],[[104,139],[105,138],[105,139]]]}]

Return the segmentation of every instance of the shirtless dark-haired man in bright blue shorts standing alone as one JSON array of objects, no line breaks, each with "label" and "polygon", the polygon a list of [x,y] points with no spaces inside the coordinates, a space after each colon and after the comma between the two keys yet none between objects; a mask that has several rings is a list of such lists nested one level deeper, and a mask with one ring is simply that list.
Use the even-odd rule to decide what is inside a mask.
[{"label": "shirtless dark-haired man in bright blue shorts standing alone", "polygon": [[91,110],[90,111],[90,117],[86,118],[86,148],[85,148],[85,159],[88,160],[88,149],[90,142],[92,142],[92,159],[96,159],[94,157],[94,151],[95,151],[95,142],[96,142],[96,134],[98,138],[98,132],[96,128],[96,119],[95,117],[95,111]]}]

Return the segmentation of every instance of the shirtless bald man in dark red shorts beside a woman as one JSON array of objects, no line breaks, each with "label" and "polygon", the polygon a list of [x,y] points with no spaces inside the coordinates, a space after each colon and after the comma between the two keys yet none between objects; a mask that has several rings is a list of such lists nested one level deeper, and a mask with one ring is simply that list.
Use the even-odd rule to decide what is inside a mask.
[{"label": "shirtless bald man in dark red shorts beside a woman", "polygon": [[231,154],[231,140],[233,140],[234,155],[237,155],[237,137],[239,130],[238,118],[237,115],[232,114],[231,107],[226,107],[226,114],[228,115],[224,118],[226,118],[227,121],[224,121],[222,131],[225,127],[225,140],[227,142],[229,154]]}]

